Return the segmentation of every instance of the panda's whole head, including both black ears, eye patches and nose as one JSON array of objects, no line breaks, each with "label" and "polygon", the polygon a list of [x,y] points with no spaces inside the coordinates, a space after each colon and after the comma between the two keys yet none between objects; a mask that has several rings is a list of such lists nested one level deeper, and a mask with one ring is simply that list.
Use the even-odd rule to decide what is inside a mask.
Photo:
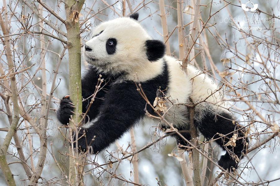
[{"label": "panda's whole head, including both black ears, eye patches and nose", "polygon": [[131,73],[165,55],[163,42],[153,40],[137,22],[138,13],[101,23],[83,47],[85,60],[100,72]]}]

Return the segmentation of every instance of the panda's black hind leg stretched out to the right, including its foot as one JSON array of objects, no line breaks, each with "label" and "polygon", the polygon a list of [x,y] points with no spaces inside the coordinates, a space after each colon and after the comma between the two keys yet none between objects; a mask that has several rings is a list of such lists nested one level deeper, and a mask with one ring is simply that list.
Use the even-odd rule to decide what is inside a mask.
[{"label": "panda's black hind leg stretched out to the right, including its foot", "polygon": [[[200,113],[199,116],[196,113],[195,126],[206,139],[214,139],[219,146],[226,150],[226,154],[221,156],[218,164],[225,170],[232,171],[233,168],[237,169],[238,159],[243,158],[245,144],[248,140],[245,139],[244,130],[236,124],[231,113],[215,111],[204,110],[204,113]],[[237,134],[238,138],[235,142],[236,145],[226,145],[234,134]]]}]

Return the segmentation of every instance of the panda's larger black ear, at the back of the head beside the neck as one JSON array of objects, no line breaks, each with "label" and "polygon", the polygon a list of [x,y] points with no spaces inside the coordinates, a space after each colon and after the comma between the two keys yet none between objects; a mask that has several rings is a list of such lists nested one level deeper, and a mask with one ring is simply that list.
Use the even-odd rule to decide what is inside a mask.
[{"label": "panda's larger black ear, at the back of the head beside the neck", "polygon": [[149,61],[156,61],[165,55],[165,44],[160,40],[147,40],[145,47]]}]

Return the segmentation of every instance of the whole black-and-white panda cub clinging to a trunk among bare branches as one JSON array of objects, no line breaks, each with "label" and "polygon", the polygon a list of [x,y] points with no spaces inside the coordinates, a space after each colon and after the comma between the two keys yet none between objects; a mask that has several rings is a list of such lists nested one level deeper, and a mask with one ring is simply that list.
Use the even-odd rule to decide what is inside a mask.
[{"label": "whole black-and-white panda cub clinging to a trunk among bare branches", "polygon": [[[78,148],[97,153],[147,117],[146,111],[155,115],[137,91],[136,80],[141,83],[150,103],[155,101],[160,87],[166,89],[164,94],[168,100],[165,104],[171,108],[164,117],[179,131],[189,130],[189,111],[182,104],[199,103],[195,106],[195,126],[206,139],[215,139],[226,150],[218,164],[228,170],[237,168],[245,137],[241,127],[234,122],[234,116],[218,106],[221,93],[217,85],[190,64],[183,72],[179,60],[165,55],[165,44],[152,39],[137,20],[138,14],[134,13],[130,17],[103,22],[83,47],[84,59],[90,64],[82,77],[83,113],[90,105],[100,74],[105,81],[85,117],[89,126],[79,128],[78,136],[85,135],[78,139]],[[69,96],[63,97],[57,112],[59,122],[67,125],[72,112],[72,101]],[[170,128],[166,123],[162,122],[162,125]],[[221,137],[221,134],[226,136]],[[234,134],[238,137],[236,146],[226,146]],[[182,135],[191,139],[188,133]],[[187,145],[179,135],[174,137],[177,144]]]}]

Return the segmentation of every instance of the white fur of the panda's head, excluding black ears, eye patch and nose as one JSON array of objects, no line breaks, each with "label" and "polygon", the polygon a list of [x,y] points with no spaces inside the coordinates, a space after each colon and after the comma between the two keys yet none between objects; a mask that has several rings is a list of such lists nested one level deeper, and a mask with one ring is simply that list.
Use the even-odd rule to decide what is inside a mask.
[{"label": "white fur of the panda's head, excluding black ears, eye patch and nose", "polygon": [[[94,50],[84,52],[86,61],[98,67],[100,71],[112,74],[116,72],[133,74],[137,69],[150,63],[145,52],[145,41],[151,37],[135,20],[118,18],[103,22],[96,27],[93,35],[101,31],[103,32],[100,35],[86,42],[86,45]],[[109,38],[117,38],[116,53],[113,55],[108,55],[106,48],[102,47]]]}]

